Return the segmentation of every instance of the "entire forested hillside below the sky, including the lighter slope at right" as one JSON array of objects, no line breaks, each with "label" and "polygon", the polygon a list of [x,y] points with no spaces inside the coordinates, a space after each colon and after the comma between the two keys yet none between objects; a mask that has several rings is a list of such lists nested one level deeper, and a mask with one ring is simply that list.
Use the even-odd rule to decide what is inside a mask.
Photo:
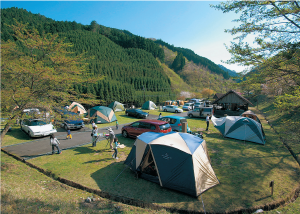
[{"label": "entire forested hillside below the sky, including the lighter slope at right", "polygon": [[[29,28],[37,29],[41,35],[58,34],[73,44],[71,51],[76,55],[86,52],[89,56],[86,75],[103,78],[93,84],[74,85],[74,90],[78,94],[95,95],[103,105],[115,100],[136,105],[145,100],[158,103],[176,99],[181,90],[200,92],[204,87],[220,91],[229,78],[226,71],[189,49],[108,28],[96,21],[90,25],[55,21],[18,8],[0,9],[0,40],[14,40],[7,25],[15,21],[28,23]],[[174,58],[165,59],[164,47],[176,52]],[[165,61],[169,68],[165,67]],[[177,73],[176,80],[170,79],[172,72],[167,71],[170,68]],[[176,81],[172,87],[171,81]]]}]

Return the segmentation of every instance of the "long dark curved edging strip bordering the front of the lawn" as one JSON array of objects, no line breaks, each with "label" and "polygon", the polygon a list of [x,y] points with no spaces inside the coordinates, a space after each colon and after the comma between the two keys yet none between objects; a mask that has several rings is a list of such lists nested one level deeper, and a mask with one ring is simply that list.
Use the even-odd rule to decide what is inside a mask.
[{"label": "long dark curved edging strip bordering the front of the lawn", "polygon": [[[63,183],[65,185],[68,185],[68,186],[76,188],[76,189],[87,191],[89,193],[93,193],[93,194],[98,195],[102,198],[106,198],[106,199],[113,200],[113,201],[116,201],[116,202],[121,202],[123,204],[131,205],[131,206],[147,208],[147,209],[152,209],[152,210],[163,210],[163,209],[165,209],[166,211],[171,212],[171,213],[175,213],[175,212],[176,213],[195,213],[195,214],[203,214],[204,213],[202,211],[196,211],[196,210],[185,210],[185,209],[176,209],[176,208],[172,208],[172,207],[160,206],[160,205],[144,202],[144,201],[133,199],[133,198],[127,198],[127,197],[124,197],[124,196],[118,196],[118,195],[110,194],[108,192],[104,192],[104,191],[101,191],[99,189],[92,189],[92,188],[86,187],[84,185],[81,185],[81,184],[76,183],[74,181],[70,181],[70,180],[65,179],[65,178],[55,177],[55,174],[52,173],[51,171],[40,168],[40,167],[26,161],[25,159],[22,159],[19,156],[16,156],[14,154],[9,153],[8,151],[6,151],[4,149],[1,149],[1,151],[6,153],[7,155],[13,157],[16,160],[25,163],[27,166],[38,170],[39,172],[43,173],[44,175],[46,175],[46,176],[48,176],[48,177],[50,177],[54,180],[59,181],[60,183]],[[270,211],[270,210],[278,208],[279,206],[281,206],[281,205],[283,205],[287,202],[290,203],[290,202],[295,201],[296,198],[299,196],[299,194],[300,194],[300,186],[298,186],[293,191],[291,191],[290,194],[285,199],[282,199],[282,200],[279,200],[279,201],[274,201],[274,202],[269,203],[269,204],[265,204],[265,205],[262,205],[262,206],[251,207],[251,208],[248,208],[248,209],[231,210],[231,211],[225,211],[225,212],[206,212],[206,214],[244,214],[244,213],[253,213],[258,209],[263,209],[264,211]]]}]

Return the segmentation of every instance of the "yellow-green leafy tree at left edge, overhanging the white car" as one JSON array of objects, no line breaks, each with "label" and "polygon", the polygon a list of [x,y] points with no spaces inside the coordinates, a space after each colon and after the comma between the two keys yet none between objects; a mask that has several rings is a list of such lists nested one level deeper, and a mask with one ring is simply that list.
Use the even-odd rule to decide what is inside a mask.
[{"label": "yellow-green leafy tree at left edge, overhanging the white car", "polygon": [[0,147],[9,126],[23,116],[25,108],[34,105],[51,110],[69,102],[74,83],[83,82],[82,72],[86,71],[84,56],[67,51],[71,44],[57,35],[40,36],[22,23],[10,27],[16,42],[0,44],[0,108],[9,117]]}]

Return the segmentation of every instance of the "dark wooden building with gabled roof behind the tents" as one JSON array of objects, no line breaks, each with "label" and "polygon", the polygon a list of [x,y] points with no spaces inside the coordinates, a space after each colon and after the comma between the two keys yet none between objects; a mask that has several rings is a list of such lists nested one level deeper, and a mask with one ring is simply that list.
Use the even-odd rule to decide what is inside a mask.
[{"label": "dark wooden building with gabled roof behind the tents", "polygon": [[228,91],[226,94],[216,99],[213,104],[222,106],[222,109],[224,110],[231,111],[236,111],[238,109],[243,109],[246,111],[248,110],[249,105],[253,106],[249,100],[233,90]]}]

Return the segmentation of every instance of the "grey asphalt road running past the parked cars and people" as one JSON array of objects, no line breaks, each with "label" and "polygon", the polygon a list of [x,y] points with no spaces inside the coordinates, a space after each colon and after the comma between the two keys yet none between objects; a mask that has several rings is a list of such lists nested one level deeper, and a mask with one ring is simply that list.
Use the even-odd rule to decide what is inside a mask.
[{"label": "grey asphalt road running past the parked cars and people", "polygon": [[[180,114],[174,114],[177,116],[186,117],[187,112],[183,112]],[[148,119],[157,119],[157,115],[149,115]],[[111,127],[116,135],[121,134],[121,129],[124,125],[127,124],[120,124],[119,129],[116,130],[116,126],[109,126],[110,124],[107,124],[108,126],[105,128],[99,128],[98,133],[107,133],[107,128]],[[71,130],[72,139],[66,139],[67,133],[65,129],[58,129],[58,132],[55,134],[56,138],[59,140],[60,145],[59,148],[61,150],[66,150],[82,145],[86,145],[89,143],[92,143],[92,137],[91,132],[92,130],[89,128],[84,128],[81,130]],[[105,140],[104,137],[101,137],[100,140]],[[42,155],[50,155],[52,154],[52,148],[50,145],[50,138],[49,137],[43,137],[38,139],[33,139],[32,141],[5,146],[2,147],[2,149],[8,151],[9,153],[15,154],[19,157],[22,157],[24,159],[30,159]]]}]

